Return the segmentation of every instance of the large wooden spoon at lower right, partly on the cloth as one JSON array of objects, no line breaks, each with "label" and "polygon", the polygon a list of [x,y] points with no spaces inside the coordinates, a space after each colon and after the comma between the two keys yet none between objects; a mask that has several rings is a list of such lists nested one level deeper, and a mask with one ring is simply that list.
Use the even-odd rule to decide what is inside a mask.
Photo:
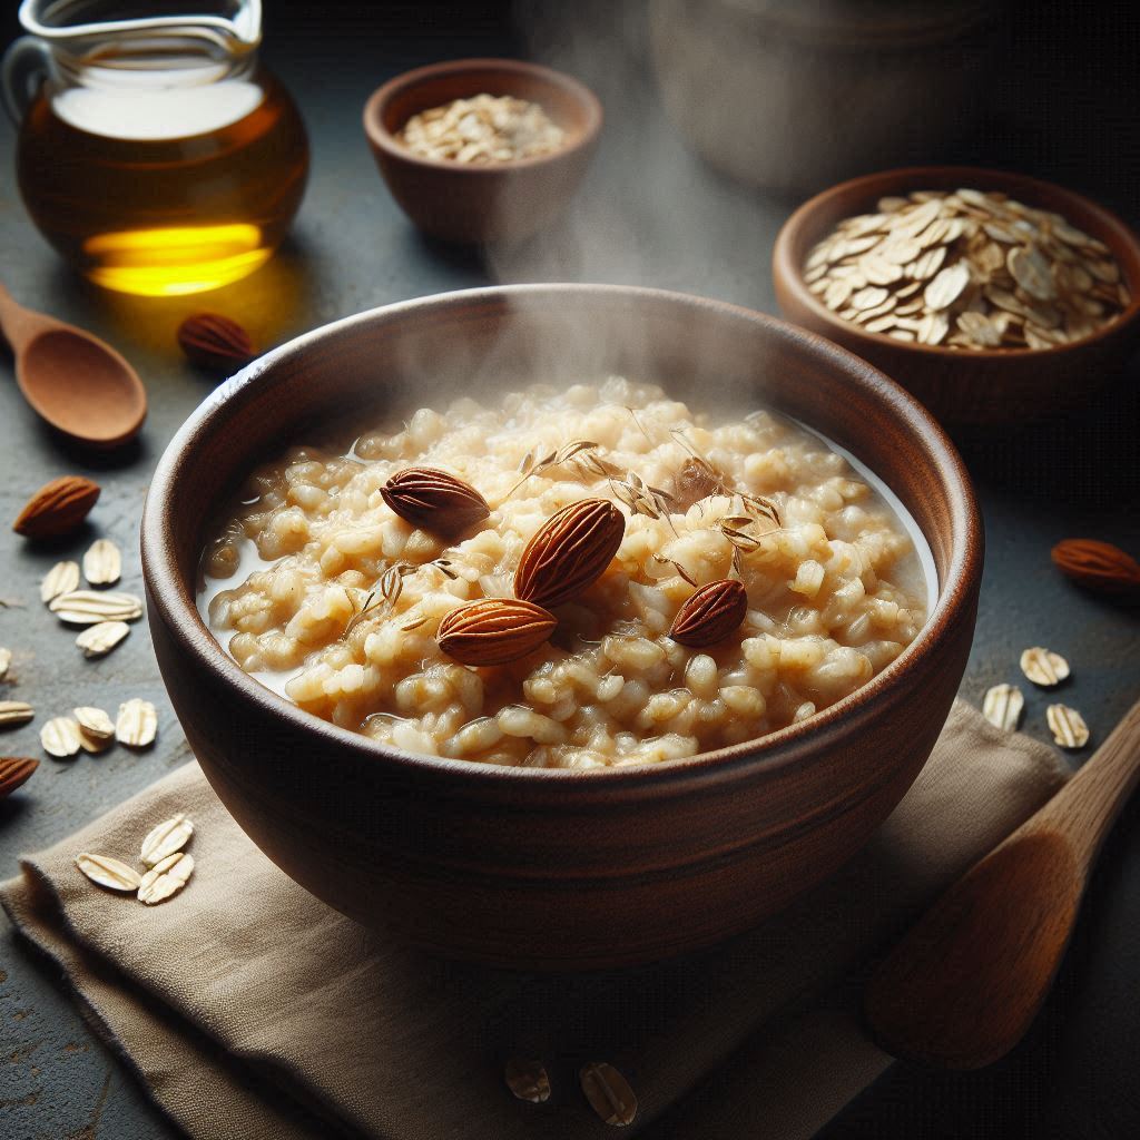
[{"label": "large wooden spoon at lower right, partly on the cloth", "polygon": [[1140,781],[1140,701],[1075,776],[959,879],[864,991],[876,1040],[953,1069],[1003,1057],[1041,1008],[1093,860]]}]

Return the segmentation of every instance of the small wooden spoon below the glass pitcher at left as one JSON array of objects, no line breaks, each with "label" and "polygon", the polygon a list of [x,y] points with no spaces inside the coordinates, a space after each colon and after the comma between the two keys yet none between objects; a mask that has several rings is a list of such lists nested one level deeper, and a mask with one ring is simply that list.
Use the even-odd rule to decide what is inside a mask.
[{"label": "small wooden spoon below the glass pitcher at left", "polygon": [[117,447],[142,426],[142,381],[109,344],[25,309],[2,285],[0,329],[16,357],[19,390],[52,427],[88,447]]}]

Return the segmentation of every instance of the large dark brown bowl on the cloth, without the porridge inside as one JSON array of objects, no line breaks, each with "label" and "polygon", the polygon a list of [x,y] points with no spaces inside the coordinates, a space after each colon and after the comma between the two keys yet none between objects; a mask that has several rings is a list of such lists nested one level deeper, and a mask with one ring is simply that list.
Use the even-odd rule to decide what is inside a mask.
[{"label": "large dark brown bowl on the cloth, without the porridge inside", "polygon": [[[356,407],[373,422],[459,391],[611,373],[730,414],[768,402],[870,465],[937,567],[937,604],[915,642],[853,695],[762,740],[644,768],[573,771],[381,746],[246,676],[203,625],[194,592],[215,505],[315,424]],[[350,317],[238,373],[158,464],[142,561],[155,651],[186,735],[275,863],[337,910],[418,946],[580,968],[715,943],[858,850],[922,767],[958,690],[982,532],[942,430],[842,349],[679,294],[520,285]]]}]

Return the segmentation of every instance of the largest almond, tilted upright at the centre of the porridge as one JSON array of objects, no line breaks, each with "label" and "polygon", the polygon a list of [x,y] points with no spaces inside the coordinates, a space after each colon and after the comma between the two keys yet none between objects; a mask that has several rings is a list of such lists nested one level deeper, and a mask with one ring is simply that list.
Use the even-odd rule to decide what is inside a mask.
[{"label": "largest almond, tilted upright at the centre of the porridge", "polygon": [[626,532],[609,499],[581,499],[551,515],[522,552],[514,593],[547,609],[577,597],[605,571]]}]

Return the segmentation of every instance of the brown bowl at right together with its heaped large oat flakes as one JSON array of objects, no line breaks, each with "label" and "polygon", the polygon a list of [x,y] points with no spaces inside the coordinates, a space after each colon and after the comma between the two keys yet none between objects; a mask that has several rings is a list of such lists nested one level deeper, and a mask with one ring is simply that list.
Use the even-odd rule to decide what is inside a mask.
[{"label": "brown bowl at right together with its heaped large oat flakes", "polygon": [[789,320],[948,425],[1076,408],[1140,345],[1140,239],[1023,174],[923,166],[842,182],[788,219],[772,271]]}]

